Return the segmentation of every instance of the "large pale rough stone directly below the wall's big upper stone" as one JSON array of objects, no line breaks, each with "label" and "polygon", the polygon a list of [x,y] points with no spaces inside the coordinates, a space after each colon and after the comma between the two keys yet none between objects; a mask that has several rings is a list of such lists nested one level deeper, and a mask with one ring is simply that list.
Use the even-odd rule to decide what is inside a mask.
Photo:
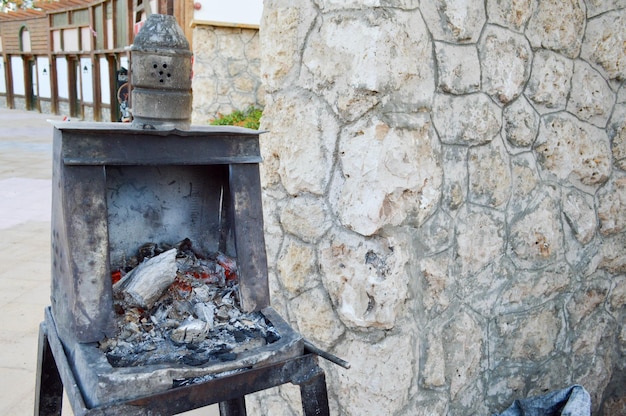
[{"label": "large pale rough stone directly below the wall's big upper stone", "polygon": [[336,213],[347,228],[371,235],[385,225],[423,221],[438,201],[441,167],[431,123],[395,129],[380,120],[344,130],[339,143],[343,182]]}]

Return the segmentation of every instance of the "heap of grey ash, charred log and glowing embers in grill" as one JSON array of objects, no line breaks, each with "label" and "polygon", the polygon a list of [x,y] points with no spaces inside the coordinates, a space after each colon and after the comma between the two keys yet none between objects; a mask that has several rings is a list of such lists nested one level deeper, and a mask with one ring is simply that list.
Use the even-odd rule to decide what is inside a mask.
[{"label": "heap of grey ash, charred log and glowing embers in grill", "polygon": [[112,273],[117,334],[99,343],[113,367],[233,361],[280,339],[262,313],[241,310],[231,257],[185,239],[146,243],[127,263]]}]

